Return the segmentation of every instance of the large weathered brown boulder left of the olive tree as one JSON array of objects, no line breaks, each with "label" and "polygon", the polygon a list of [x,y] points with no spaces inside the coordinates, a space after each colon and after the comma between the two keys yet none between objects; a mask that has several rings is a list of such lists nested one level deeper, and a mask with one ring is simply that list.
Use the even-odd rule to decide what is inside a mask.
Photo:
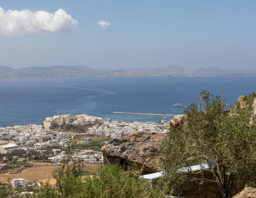
[{"label": "large weathered brown boulder left of the olive tree", "polygon": [[136,132],[132,136],[112,139],[102,147],[105,163],[143,167],[143,172],[156,172],[158,148],[166,138],[161,133]]}]

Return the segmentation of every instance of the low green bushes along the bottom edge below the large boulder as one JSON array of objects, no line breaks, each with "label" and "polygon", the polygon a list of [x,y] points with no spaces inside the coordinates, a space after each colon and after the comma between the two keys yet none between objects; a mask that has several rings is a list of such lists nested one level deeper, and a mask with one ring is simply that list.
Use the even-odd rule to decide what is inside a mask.
[{"label": "low green bushes along the bottom edge below the large boulder", "polygon": [[162,192],[139,178],[141,169],[130,167],[127,172],[120,165],[102,165],[94,176],[83,176],[83,164],[72,161],[75,146],[72,141],[65,149],[68,158],[63,166],[53,171],[56,185],[43,185],[39,198],[158,198]]}]

